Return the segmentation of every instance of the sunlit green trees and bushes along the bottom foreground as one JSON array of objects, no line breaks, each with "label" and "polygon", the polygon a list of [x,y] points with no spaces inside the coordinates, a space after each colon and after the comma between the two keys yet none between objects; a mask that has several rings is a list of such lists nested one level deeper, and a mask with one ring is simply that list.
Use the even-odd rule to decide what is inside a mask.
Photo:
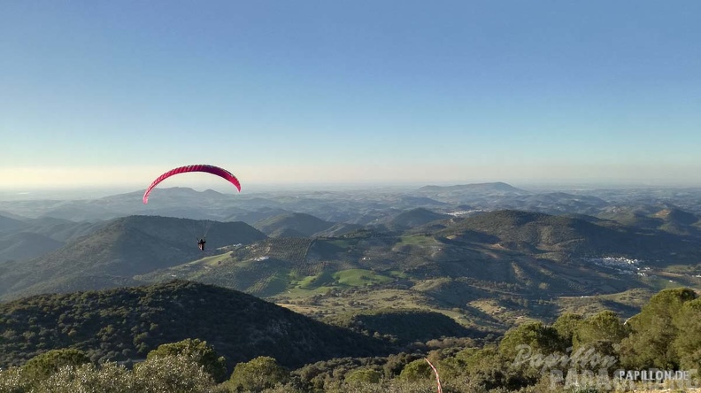
[{"label": "sunlit green trees and bushes along the bottom foreground", "polygon": [[[203,290],[202,286],[196,287]],[[566,313],[549,324],[522,323],[495,341],[446,337],[387,356],[326,358],[292,367],[265,355],[227,365],[227,359],[220,357],[221,343],[189,338],[159,345],[133,368],[110,361],[97,364],[88,352],[65,348],[43,352],[22,366],[0,370],[0,387],[13,392],[54,393],[429,393],[435,391],[436,381],[428,359],[446,393],[691,392],[697,385],[696,374],[651,380],[620,378],[618,370],[654,368],[665,370],[663,375],[695,370],[701,360],[697,323],[700,301],[691,289],[666,289],[651,297],[641,312],[628,320],[611,311],[589,316]],[[391,324],[397,331],[402,326],[397,322],[412,318],[417,324],[431,324],[429,319],[433,319],[437,320],[435,327],[446,326],[430,313],[378,312],[369,317],[352,322],[357,326]],[[192,335],[200,333],[191,331]],[[416,326],[406,328],[404,333],[420,334]],[[94,345],[105,343],[111,343],[110,337]]]}]

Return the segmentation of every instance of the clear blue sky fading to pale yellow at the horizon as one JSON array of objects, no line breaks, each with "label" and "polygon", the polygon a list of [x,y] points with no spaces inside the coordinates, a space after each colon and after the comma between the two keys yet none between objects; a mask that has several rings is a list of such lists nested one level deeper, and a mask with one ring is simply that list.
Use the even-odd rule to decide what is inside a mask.
[{"label": "clear blue sky fading to pale yellow at the horizon", "polygon": [[697,0],[3,1],[0,189],[145,188],[199,163],[243,189],[699,185],[699,15]]}]

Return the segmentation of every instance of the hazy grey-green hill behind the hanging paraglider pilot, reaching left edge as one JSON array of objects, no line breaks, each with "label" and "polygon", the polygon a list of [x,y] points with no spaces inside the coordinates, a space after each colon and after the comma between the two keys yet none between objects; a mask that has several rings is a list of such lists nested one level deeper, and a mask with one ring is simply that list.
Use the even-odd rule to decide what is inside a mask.
[{"label": "hazy grey-green hill behind the hanging paraglider pilot, reaching left edge", "polygon": [[[5,264],[6,271],[0,275],[0,295],[7,299],[58,290],[99,289],[90,282],[114,287],[135,274],[201,257],[196,237],[207,232],[207,247],[211,250],[266,238],[243,222],[151,216],[116,219],[42,257]],[[92,280],[83,281],[81,277]],[[67,282],[72,284],[66,285]]]}]

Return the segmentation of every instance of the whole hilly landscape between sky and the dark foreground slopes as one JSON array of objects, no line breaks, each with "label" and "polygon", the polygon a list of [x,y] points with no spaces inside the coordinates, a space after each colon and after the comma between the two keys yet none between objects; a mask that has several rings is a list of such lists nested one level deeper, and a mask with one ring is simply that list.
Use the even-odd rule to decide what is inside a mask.
[{"label": "whole hilly landscape between sky and the dark foreground slopes", "polygon": [[177,278],[318,318],[402,307],[492,331],[572,307],[630,313],[620,294],[698,286],[695,192],[483,183],[0,202],[0,298]]}]

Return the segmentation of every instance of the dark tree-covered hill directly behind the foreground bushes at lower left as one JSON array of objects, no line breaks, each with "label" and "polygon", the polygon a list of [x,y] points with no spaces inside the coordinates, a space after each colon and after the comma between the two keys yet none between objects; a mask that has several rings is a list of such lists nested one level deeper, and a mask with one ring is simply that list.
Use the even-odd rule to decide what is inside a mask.
[{"label": "dark tree-covered hill directly behind the foreground bushes at lower left", "polygon": [[96,361],[145,358],[162,343],[199,338],[229,368],[258,356],[303,366],[385,355],[386,342],[326,325],[231,289],[189,281],[27,297],[0,304],[0,366],[58,348]]}]

